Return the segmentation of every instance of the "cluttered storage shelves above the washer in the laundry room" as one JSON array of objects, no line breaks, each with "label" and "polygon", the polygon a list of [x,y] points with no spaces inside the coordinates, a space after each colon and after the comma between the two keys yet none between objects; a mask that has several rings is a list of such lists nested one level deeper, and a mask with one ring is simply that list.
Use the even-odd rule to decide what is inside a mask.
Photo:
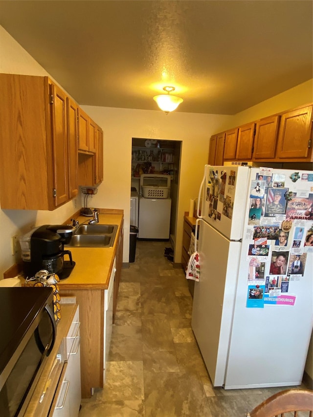
[{"label": "cluttered storage shelves above the washer in the laundry room", "polygon": [[141,174],[168,174],[173,176],[175,158],[173,149],[165,148],[132,148],[132,177]]}]

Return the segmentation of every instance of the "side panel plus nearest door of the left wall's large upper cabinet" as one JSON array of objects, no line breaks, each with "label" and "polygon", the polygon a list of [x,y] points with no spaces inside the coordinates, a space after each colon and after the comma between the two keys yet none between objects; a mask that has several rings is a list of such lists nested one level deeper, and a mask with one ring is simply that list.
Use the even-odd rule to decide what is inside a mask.
[{"label": "side panel plus nearest door of the left wall's large upper cabinet", "polygon": [[54,210],[70,198],[67,97],[31,75],[0,74],[0,91],[1,209]]}]

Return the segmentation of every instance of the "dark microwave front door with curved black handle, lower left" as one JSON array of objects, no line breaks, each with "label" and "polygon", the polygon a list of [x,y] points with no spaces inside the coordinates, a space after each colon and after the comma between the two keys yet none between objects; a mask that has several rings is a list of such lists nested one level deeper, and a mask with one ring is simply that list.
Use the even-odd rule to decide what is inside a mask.
[{"label": "dark microwave front door with curved black handle, lower left", "polygon": [[0,375],[0,416],[23,416],[56,337],[51,304],[37,314]]}]

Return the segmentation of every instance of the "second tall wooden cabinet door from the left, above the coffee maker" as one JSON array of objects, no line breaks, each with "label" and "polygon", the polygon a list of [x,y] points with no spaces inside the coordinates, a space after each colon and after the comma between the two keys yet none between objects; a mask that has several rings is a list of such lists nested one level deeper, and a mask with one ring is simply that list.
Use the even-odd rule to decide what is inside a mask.
[{"label": "second tall wooden cabinet door from the left, above the coffee maker", "polygon": [[67,143],[68,143],[68,180],[69,198],[78,194],[77,169],[78,169],[78,149],[77,149],[77,113],[78,106],[67,97]]}]

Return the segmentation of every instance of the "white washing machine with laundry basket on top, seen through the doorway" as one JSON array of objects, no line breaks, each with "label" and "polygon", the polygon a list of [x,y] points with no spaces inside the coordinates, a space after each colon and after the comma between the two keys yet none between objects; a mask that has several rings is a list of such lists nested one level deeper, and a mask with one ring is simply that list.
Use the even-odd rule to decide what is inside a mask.
[{"label": "white washing machine with laundry basket on top, seen through the doorway", "polygon": [[170,187],[169,175],[140,176],[138,239],[169,239],[172,205]]}]

